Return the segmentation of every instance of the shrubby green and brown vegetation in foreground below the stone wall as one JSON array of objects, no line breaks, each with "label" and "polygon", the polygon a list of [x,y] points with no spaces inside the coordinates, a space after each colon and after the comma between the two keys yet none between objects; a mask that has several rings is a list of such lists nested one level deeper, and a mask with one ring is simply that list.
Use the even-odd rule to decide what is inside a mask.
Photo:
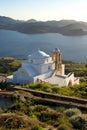
[{"label": "shrubby green and brown vegetation in foreground below the stone wall", "polygon": [[51,108],[35,103],[31,97],[22,101],[21,96],[12,96],[12,106],[0,112],[1,130],[86,130],[87,114],[79,109]]}]

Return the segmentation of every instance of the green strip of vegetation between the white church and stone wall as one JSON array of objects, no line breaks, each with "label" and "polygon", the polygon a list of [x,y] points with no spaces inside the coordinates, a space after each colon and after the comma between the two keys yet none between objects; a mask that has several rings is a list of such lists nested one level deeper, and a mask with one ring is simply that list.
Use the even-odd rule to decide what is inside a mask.
[{"label": "green strip of vegetation between the white church and stone wall", "polygon": [[73,96],[87,99],[87,83],[81,83],[79,85],[59,87],[52,86],[49,84],[28,84],[23,87],[30,88],[33,90],[45,91],[54,94]]}]

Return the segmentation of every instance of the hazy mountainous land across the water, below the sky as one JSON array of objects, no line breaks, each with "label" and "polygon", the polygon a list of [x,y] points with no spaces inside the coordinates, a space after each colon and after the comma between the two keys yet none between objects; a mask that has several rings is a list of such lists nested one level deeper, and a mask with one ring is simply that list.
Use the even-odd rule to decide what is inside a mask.
[{"label": "hazy mountainous land across the water, below the sky", "polygon": [[0,16],[0,29],[13,30],[26,34],[60,33],[68,36],[87,35],[87,23],[75,20],[43,22],[30,19],[23,21]]}]

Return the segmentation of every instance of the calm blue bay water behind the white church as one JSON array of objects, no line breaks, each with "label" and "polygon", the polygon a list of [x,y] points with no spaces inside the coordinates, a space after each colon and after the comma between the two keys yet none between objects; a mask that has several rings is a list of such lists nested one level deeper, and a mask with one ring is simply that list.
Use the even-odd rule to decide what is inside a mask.
[{"label": "calm blue bay water behind the white church", "polygon": [[62,51],[64,60],[87,63],[87,35],[63,36],[58,33],[23,34],[0,30],[0,57],[26,58],[37,49],[52,53]]}]

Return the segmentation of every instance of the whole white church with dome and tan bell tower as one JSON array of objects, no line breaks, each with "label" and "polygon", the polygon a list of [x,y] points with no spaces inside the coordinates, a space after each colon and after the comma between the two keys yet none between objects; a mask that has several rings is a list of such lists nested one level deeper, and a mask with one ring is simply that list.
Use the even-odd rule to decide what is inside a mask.
[{"label": "whole white church with dome and tan bell tower", "polygon": [[52,57],[41,50],[28,56],[21,67],[7,77],[7,82],[14,84],[48,83],[58,86],[79,84],[79,78],[74,73],[65,74],[62,64],[62,53],[59,49],[52,52]]}]

